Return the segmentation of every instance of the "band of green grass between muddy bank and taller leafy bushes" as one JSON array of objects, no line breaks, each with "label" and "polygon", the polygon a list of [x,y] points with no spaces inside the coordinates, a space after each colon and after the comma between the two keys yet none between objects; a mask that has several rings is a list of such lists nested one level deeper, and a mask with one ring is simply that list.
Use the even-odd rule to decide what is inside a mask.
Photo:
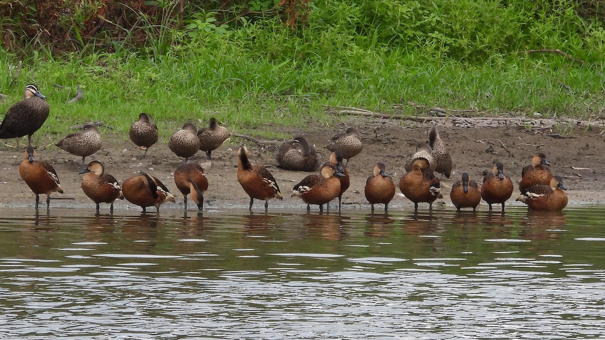
[{"label": "band of green grass between muddy bank and taller leafy bushes", "polygon": [[[8,88],[0,73],[0,93],[9,96],[0,111],[21,100],[27,83],[38,85],[51,104],[42,134],[60,137],[70,126],[103,120],[128,138],[139,113],[151,114],[163,139],[183,123],[206,125],[217,117],[241,133],[257,134],[263,123],[333,125],[345,119],[322,105],[356,106],[395,113],[393,104],[413,101],[446,109],[473,109],[485,115],[587,119],[605,114],[603,67],[580,65],[558,55],[532,54],[470,63],[430,58],[400,50],[352,48],[331,56],[275,60],[249,50],[217,44],[174,47],[164,56],[137,53],[32,56]],[[0,69],[17,59],[0,51]],[[54,87],[53,84],[65,88]],[[79,102],[68,104],[76,85]],[[414,114],[411,107],[404,114]],[[263,137],[284,136],[278,128]]]}]

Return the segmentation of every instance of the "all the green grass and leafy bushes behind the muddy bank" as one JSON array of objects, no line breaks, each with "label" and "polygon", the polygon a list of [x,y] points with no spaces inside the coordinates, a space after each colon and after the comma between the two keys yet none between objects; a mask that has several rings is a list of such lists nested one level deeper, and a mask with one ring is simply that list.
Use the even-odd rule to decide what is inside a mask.
[{"label": "all the green grass and leafy bushes behind the muddy bank", "polygon": [[[52,105],[51,134],[92,120],[123,131],[143,111],[165,137],[210,116],[244,131],[305,129],[339,119],[323,105],[414,114],[410,101],[475,114],[605,114],[598,1],[44,3],[54,30],[36,21],[46,18],[34,15],[40,8],[0,0],[0,69],[24,63],[16,79],[0,73],[10,96],[0,108],[37,83]],[[84,97],[68,104],[77,85]]]}]

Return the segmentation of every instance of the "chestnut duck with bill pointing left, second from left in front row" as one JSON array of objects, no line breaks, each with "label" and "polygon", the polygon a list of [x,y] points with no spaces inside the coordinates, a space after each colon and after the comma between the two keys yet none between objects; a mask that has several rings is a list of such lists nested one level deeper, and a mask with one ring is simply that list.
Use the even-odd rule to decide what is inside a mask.
[{"label": "chestnut duck with bill pointing left, second from left in front row", "polygon": [[99,212],[99,203],[110,203],[110,212],[113,212],[113,203],[120,198],[123,200],[122,187],[116,177],[105,174],[105,166],[98,160],[88,163],[88,166],[80,171],[82,178],[82,191],[94,203],[97,204]]}]

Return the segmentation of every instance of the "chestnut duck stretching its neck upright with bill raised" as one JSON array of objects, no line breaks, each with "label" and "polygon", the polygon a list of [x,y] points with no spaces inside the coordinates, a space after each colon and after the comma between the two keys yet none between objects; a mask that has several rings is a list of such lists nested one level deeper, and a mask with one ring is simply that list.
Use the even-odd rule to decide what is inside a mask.
[{"label": "chestnut duck stretching its neck upright with bill raised", "polygon": [[250,196],[250,210],[252,210],[254,198],[265,201],[265,211],[269,207],[271,198],[284,199],[271,172],[264,166],[250,163],[246,146],[241,146],[237,151],[237,181]]}]

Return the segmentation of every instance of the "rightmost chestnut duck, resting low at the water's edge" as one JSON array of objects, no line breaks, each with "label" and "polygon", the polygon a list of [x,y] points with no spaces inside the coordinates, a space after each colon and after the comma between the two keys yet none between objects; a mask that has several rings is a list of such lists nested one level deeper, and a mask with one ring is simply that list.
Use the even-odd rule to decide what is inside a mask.
[{"label": "rightmost chestnut duck, resting low at the water's edge", "polygon": [[525,194],[519,195],[517,201],[528,205],[535,211],[561,211],[567,206],[567,190],[563,185],[563,178],[554,176],[549,185],[534,185]]}]

